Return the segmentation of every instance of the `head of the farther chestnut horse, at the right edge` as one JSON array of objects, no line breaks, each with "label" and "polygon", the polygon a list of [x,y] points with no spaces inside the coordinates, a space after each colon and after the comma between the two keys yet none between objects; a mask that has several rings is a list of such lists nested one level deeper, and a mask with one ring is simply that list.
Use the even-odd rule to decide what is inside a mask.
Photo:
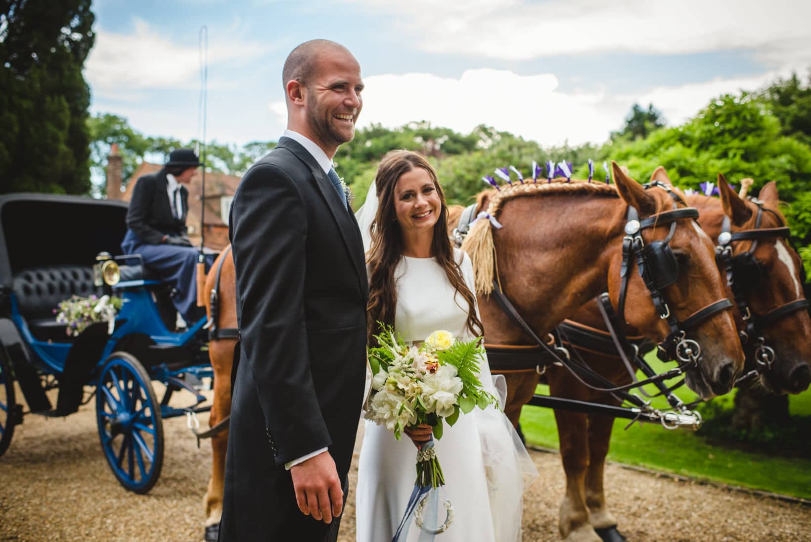
[{"label": "head of the farther chestnut horse, at the right edge", "polygon": [[[803,264],[786,239],[777,185],[767,183],[757,200],[741,199],[722,174],[718,185],[733,239],[736,233],[744,236],[728,243],[732,289],[736,300],[742,302],[739,305],[749,309],[742,321],[749,335],[744,347],[755,363],[763,363],[765,370],[760,371],[760,377],[766,389],[776,394],[799,394],[811,383],[811,317],[802,303],[795,303],[805,299]],[[774,235],[768,234],[770,229]],[[758,231],[762,237],[746,239]],[[774,363],[767,363],[770,352],[764,346],[773,349]]]}]

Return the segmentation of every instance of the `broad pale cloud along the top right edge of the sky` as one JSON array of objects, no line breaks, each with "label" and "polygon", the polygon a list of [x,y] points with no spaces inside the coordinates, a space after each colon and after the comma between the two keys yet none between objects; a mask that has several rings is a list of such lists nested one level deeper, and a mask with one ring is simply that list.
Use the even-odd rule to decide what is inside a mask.
[{"label": "broad pale cloud along the top right edge of the sky", "polygon": [[396,15],[422,49],[503,60],[561,54],[748,49],[774,67],[811,62],[811,2],[797,0],[345,0]]}]

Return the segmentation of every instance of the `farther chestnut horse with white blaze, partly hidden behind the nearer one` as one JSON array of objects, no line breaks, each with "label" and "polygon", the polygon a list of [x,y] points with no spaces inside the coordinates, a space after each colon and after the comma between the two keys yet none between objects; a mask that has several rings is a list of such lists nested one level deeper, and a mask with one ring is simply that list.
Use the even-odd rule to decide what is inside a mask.
[{"label": "farther chestnut horse with white blaze, partly hidden behind the nearer one", "polygon": [[[667,174],[659,168],[651,180],[670,184]],[[689,204],[700,210],[699,222],[710,237],[717,243],[722,231],[723,217],[731,217],[732,232],[751,230],[757,217],[757,205],[743,200],[730,189],[719,175],[721,198],[690,196]],[[768,183],[761,191],[762,204],[767,212],[762,212],[759,228],[768,229],[785,225],[785,220],[777,210],[778,195],[775,183]],[[482,202],[479,201],[481,204]],[[734,247],[733,254],[747,252],[751,242],[741,241]],[[777,237],[758,242],[753,252],[758,264],[766,269],[768,280],[762,281],[749,291],[747,304],[752,312],[763,315],[775,308],[792,303],[802,297],[800,287],[799,256],[783,239]],[[729,292],[732,297],[732,292]],[[737,312],[737,311],[736,311]],[[740,313],[737,323],[743,329],[744,320]],[[573,317],[574,322],[593,329],[605,329],[597,304],[588,303]],[[775,349],[777,359],[768,370],[761,371],[760,381],[766,389],[774,393],[800,393],[809,386],[811,371],[808,359],[811,350],[807,340],[811,333],[811,319],[805,310],[795,310],[770,322],[763,330],[766,343]],[[637,333],[633,330],[631,333]],[[800,340],[798,340],[800,338]],[[751,359],[755,355],[752,341],[744,351]],[[594,371],[616,385],[629,384],[631,377],[618,355],[577,348],[574,355]],[[513,390],[513,405],[509,412],[513,423],[521,406],[534,393],[537,377],[534,373],[508,374],[508,389]],[[587,402],[618,404],[609,394],[587,389],[564,368],[550,367],[545,373],[550,386],[550,394],[556,397],[577,399]],[[525,399],[526,398],[526,399]],[[566,540],[622,540],[616,531],[616,519],[608,512],[603,492],[603,467],[611,438],[613,418],[607,415],[586,415],[571,411],[555,411],[560,454],[566,474],[566,493],[560,506],[560,534]]]}]

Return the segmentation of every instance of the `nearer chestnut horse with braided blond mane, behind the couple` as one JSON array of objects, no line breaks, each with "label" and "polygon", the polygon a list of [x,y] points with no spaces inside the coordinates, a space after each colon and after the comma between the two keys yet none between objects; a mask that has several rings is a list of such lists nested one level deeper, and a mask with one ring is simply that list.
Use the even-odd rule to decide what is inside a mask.
[{"label": "nearer chestnut horse with braided blond mane, behind the couple", "polygon": [[[661,188],[645,190],[616,165],[614,175],[616,188],[602,183],[526,183],[504,187],[491,200],[491,213],[504,226],[490,230],[491,248],[495,249],[497,257],[497,276],[504,293],[539,336],[545,336],[599,292],[608,290],[614,299],[619,295],[621,243],[629,205],[639,210],[641,219],[673,207],[672,199]],[[676,316],[684,319],[702,308],[706,299],[722,299],[723,284],[714,265],[710,240],[701,237],[691,219],[675,223],[670,246],[691,262],[692,295],[687,299],[680,293],[686,289],[686,276],[668,286],[665,295],[675,303]],[[474,226],[466,242],[478,239],[479,247],[486,246],[484,227],[489,229],[490,223],[483,221]],[[646,230],[646,238],[663,238],[669,227],[669,223],[654,226]],[[487,269],[483,265],[487,259],[480,257],[482,251],[477,256],[476,250],[467,248],[474,261],[477,284],[487,284]],[[233,273],[233,261],[228,258],[224,260],[219,289],[221,310],[217,323],[223,328],[234,327],[236,323]],[[226,277],[231,277],[230,282],[226,282]],[[207,281],[207,290],[211,286],[212,281]],[[487,342],[527,344],[520,329],[506,319],[495,302],[486,294],[477,293]],[[226,304],[230,304],[227,310]],[[226,320],[228,315],[230,320]],[[642,278],[636,275],[629,281],[626,317],[634,325],[656,329],[659,339],[667,335],[667,325],[659,319]],[[716,313],[690,334],[701,343],[703,350],[700,367],[691,372],[693,385],[705,397],[714,394],[713,390],[726,392],[744,361],[731,313]],[[221,386],[215,384],[215,407],[209,421],[213,425],[230,410],[227,387],[233,342],[228,341],[219,348],[212,341],[209,351],[215,381],[221,382]],[[205,497],[207,525],[216,525],[221,513],[222,465],[227,437],[221,433],[219,438],[222,444],[213,443],[215,465]]]}]

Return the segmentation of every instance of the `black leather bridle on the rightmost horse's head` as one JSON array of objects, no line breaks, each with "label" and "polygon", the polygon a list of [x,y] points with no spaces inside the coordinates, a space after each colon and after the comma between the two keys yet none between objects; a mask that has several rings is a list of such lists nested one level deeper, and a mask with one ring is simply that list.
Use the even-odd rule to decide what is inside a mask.
[{"label": "black leather bridle on the rightmost horse's head", "polygon": [[[761,228],[763,211],[774,214],[780,223],[784,224],[784,222],[779,218],[777,213],[771,209],[764,208],[761,200],[757,200],[753,197],[749,197],[748,199],[753,202],[753,204],[757,205],[754,228],[732,233],[730,218],[724,216],[721,225],[721,234],[718,236],[718,246],[715,247],[715,259],[718,261],[719,268],[725,272],[727,286],[730,287],[733,295],[735,295],[735,303],[746,324],[745,331],[740,332],[740,342],[746,344],[751,339],[753,346],[755,346],[756,368],[754,371],[750,371],[738,379],[739,382],[751,380],[757,376],[758,373],[770,370],[772,363],[775,362],[775,351],[770,346],[766,345],[766,339],[763,337],[761,331],[762,327],[772,325],[775,321],[780,320],[784,316],[809,307],[808,300],[801,297],[800,299],[784,303],[762,315],[754,314],[749,308],[746,295],[756,288],[762,280],[761,264],[754,256],[757,241],[762,239],[787,239],[790,232],[788,226]],[[733,254],[732,243],[738,241],[752,241],[752,246],[749,247],[749,250],[746,252]],[[744,276],[744,274],[748,274],[748,276]],[[755,274],[755,277],[752,277],[753,274]]]}]

